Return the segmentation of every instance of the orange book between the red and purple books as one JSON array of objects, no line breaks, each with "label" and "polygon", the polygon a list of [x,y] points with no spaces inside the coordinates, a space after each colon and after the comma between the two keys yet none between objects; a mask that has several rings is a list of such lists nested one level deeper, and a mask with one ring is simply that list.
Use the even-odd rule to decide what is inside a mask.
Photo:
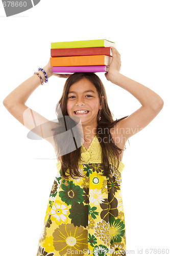
[{"label": "orange book between the red and purple books", "polygon": [[51,67],[110,66],[112,57],[106,55],[51,57]]}]

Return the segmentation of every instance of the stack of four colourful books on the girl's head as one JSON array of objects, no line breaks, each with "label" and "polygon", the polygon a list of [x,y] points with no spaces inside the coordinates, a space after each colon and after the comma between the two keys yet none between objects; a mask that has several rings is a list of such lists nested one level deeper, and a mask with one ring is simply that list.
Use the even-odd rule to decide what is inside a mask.
[{"label": "stack of four colourful books on the girl's head", "polygon": [[115,42],[106,39],[51,43],[53,73],[108,72]]}]

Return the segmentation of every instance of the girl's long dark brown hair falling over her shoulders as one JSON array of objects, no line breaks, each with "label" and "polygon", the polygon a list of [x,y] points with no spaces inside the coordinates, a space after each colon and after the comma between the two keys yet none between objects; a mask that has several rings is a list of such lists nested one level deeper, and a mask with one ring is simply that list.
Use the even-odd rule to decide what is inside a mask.
[{"label": "girl's long dark brown hair falling over her shoulders", "polygon": [[[70,127],[74,126],[73,125],[74,121],[71,118],[69,118],[68,113],[67,113],[68,90],[73,83],[81,80],[82,78],[86,78],[94,84],[94,86],[99,94],[100,104],[102,104],[101,120],[100,121],[99,121],[99,112],[98,112],[98,116],[97,116],[98,126],[96,129],[96,133],[99,133],[99,137],[100,137],[99,142],[102,147],[102,159],[103,159],[104,166],[106,166],[104,168],[103,175],[107,176],[107,175],[109,175],[109,172],[110,172],[110,167],[109,167],[110,163],[108,160],[108,156],[110,156],[110,159],[114,158],[114,161],[115,161],[115,157],[117,158],[117,160],[118,160],[117,166],[114,166],[114,164],[112,163],[112,166],[114,166],[114,168],[117,170],[117,168],[119,166],[119,157],[118,156],[124,150],[115,145],[115,143],[111,137],[111,134],[110,134],[110,129],[117,122],[119,122],[120,120],[122,120],[128,116],[113,120],[113,114],[111,113],[109,106],[108,106],[107,95],[106,95],[104,84],[102,83],[101,79],[94,73],[74,73],[67,78],[67,80],[64,84],[62,96],[56,105],[56,114],[58,116],[58,123],[57,123],[56,129],[52,129],[52,131],[55,131],[54,132],[54,141],[55,141],[55,145],[56,145],[56,151],[62,152],[62,149],[61,149],[61,143],[59,145],[57,139],[55,139],[55,137],[56,137],[55,135],[60,134],[60,139],[61,139],[61,136],[63,134],[63,127],[65,128],[65,131],[67,131],[70,129]],[[102,96],[105,97],[105,100],[102,100],[103,99]],[[67,120],[65,120],[66,117],[67,117]],[[67,122],[67,125],[66,125],[66,122]],[[70,124],[70,127],[69,127],[69,124]],[[76,125],[76,123],[75,123],[75,125]],[[109,131],[108,134],[105,134],[106,130]],[[63,136],[64,136],[64,134],[63,134]],[[71,134],[70,134],[70,136],[71,136]],[[104,139],[104,137],[105,137],[105,139]],[[69,151],[69,148],[71,148],[71,145],[66,143],[66,140],[63,140],[63,141],[65,141],[65,143],[64,142],[62,143],[62,147],[63,148],[67,147],[68,152],[70,152],[71,150]],[[67,141],[71,141],[71,140],[68,139]],[[118,153],[118,151],[120,151],[120,153]],[[68,178],[68,175],[65,175],[67,168],[69,168],[69,174],[72,178],[75,178],[75,176],[82,177],[78,170],[79,157],[80,157],[80,147],[79,148],[76,147],[76,150],[74,150],[68,154],[60,156],[61,172],[62,172],[62,176],[64,178]]]}]

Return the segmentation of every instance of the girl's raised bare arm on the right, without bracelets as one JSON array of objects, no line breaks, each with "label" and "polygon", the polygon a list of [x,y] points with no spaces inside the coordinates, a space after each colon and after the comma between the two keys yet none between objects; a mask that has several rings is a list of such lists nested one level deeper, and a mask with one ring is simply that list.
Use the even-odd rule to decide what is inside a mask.
[{"label": "girl's raised bare arm on the right, without bracelets", "polygon": [[111,49],[113,58],[109,71],[105,74],[107,80],[130,92],[141,103],[138,110],[117,122],[111,130],[111,133],[114,133],[114,136],[125,144],[131,136],[141,131],[158,115],[164,102],[157,93],[148,87],[120,74],[120,54],[114,47]]}]

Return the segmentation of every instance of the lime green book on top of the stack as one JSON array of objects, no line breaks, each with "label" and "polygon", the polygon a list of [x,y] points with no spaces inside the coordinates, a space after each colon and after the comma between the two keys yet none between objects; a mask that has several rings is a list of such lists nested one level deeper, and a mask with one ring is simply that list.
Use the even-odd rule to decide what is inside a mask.
[{"label": "lime green book on top of the stack", "polygon": [[86,47],[115,47],[115,42],[106,39],[85,40],[85,41],[68,41],[68,42],[52,42],[51,49],[62,48],[86,48]]}]

